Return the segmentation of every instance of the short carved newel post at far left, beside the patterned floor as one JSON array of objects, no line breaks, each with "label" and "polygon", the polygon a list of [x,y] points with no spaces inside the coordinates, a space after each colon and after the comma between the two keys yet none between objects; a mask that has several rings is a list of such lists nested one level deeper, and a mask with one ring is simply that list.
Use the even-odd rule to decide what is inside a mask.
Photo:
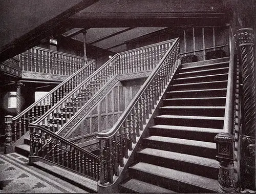
[{"label": "short carved newel post at far left, beside the patterned floor", "polygon": [[5,116],[5,154],[13,153],[12,147],[12,116],[7,115]]}]

